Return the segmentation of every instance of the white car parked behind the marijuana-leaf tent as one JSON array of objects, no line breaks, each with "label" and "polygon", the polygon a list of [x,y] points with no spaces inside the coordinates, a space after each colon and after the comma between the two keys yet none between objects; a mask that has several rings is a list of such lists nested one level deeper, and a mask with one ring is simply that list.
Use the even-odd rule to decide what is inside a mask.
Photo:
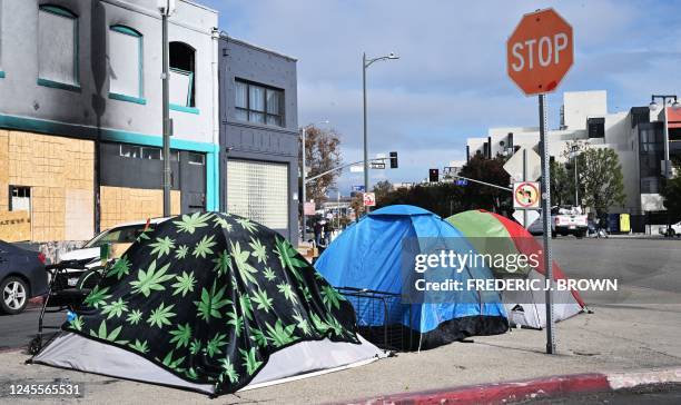
[{"label": "white car parked behind the marijuana-leaf tent", "polygon": [[[99,235],[93,237],[90,241],[85,244],[80,249],[68,251],[59,256],[59,260],[78,260],[85,263],[87,268],[97,267],[101,264],[100,251],[101,246],[108,244],[111,247],[110,257],[119,257],[128,247],[137,240],[137,237],[147,228],[147,226],[154,226],[160,224],[168,218],[151,218],[148,220],[125,223],[117,225],[112,228],[101,231]],[[79,285],[78,280],[83,277],[87,270],[82,269],[67,269],[68,274],[67,283],[70,287]],[[82,281],[82,280],[81,280]],[[82,283],[80,283],[81,285]]]}]

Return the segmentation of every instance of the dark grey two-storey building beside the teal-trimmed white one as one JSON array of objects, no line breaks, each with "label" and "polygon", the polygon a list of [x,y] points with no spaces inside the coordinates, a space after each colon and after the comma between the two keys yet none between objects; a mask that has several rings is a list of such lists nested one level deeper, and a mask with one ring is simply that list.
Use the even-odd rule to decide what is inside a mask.
[{"label": "dark grey two-storey building beside the teal-trimmed white one", "polygon": [[297,243],[296,59],[220,38],[221,209]]}]

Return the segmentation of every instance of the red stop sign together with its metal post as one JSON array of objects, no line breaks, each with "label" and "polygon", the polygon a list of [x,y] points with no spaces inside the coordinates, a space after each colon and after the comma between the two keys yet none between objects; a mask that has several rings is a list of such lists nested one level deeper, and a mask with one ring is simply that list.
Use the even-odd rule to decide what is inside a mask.
[{"label": "red stop sign together with its metal post", "polygon": [[[553,9],[537,10],[523,16],[506,42],[509,77],[526,96],[539,96],[544,268],[550,287],[553,287],[553,258],[551,254],[551,179],[546,137],[546,92],[555,90],[572,66],[573,48],[572,27]],[[546,353],[549,354],[555,354],[554,332],[553,293],[551,288],[547,288]]]}]

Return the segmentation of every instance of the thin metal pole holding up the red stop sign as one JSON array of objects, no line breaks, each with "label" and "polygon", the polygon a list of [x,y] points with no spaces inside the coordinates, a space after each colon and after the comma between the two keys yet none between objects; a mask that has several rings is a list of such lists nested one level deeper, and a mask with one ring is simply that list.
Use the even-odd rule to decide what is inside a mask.
[{"label": "thin metal pole holding up the red stop sign", "polygon": [[555,354],[555,322],[553,318],[553,258],[551,256],[551,178],[549,138],[546,137],[546,95],[539,96],[540,140],[542,145],[542,221],[544,226],[544,268],[546,269],[546,353]]}]

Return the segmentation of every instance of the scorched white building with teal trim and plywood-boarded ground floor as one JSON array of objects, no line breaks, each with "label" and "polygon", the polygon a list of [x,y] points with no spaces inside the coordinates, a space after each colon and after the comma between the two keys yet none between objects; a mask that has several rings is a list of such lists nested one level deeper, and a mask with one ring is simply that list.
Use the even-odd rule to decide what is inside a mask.
[{"label": "scorched white building with teal trim and plywood-boarded ground floor", "polygon": [[[30,240],[219,208],[217,12],[170,18],[171,156],[161,154],[156,0],[0,1],[0,217],[26,211]],[[10,214],[4,214],[10,215]]]}]

